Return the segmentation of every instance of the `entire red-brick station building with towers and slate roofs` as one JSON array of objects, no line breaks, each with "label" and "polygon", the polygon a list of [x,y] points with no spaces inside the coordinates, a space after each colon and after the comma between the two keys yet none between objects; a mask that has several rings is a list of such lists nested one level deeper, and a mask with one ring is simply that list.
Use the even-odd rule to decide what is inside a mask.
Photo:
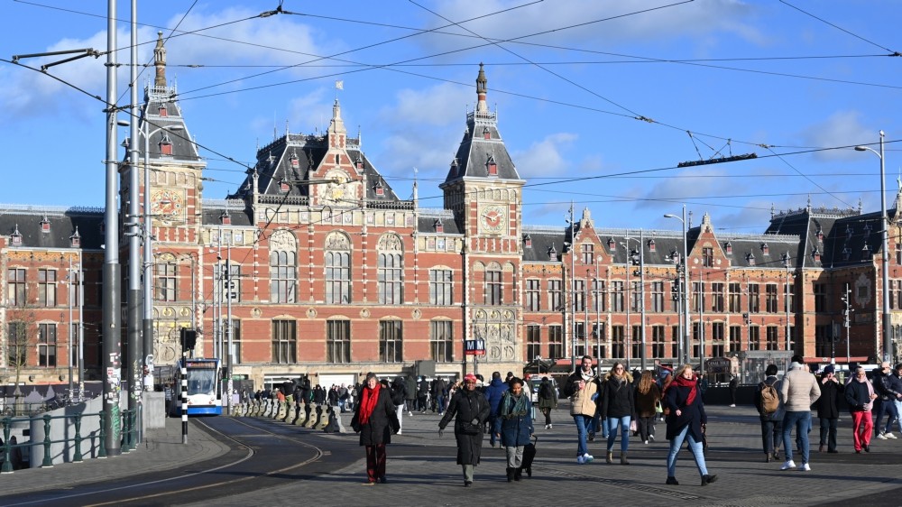
[{"label": "entire red-brick station building with towers and slate roofs", "polygon": [[[392,191],[348,134],[337,100],[325,134],[287,132],[257,151],[234,194],[207,199],[207,164],[189,141],[158,41],[140,120],[154,132],[152,204],[142,211],[154,241],[142,262],[152,264],[157,366],[179,357],[182,328],[197,331],[196,357],[227,358],[231,334],[234,378],[258,389],[304,374],[330,385],[370,371],[564,373],[584,354],[634,368],[643,349],[648,367],[687,355],[698,365],[704,358],[715,379],[733,372],[757,382],[763,365],[787,351],[820,364],[883,354],[879,211],[775,211],[757,235],[717,233],[705,213],[686,220],[686,263],[676,220],[675,230],[608,229],[584,209],[571,226],[529,226],[526,180],[486,106],[482,66],[475,92],[439,185],[441,208],[420,207],[416,188],[410,200]],[[141,162],[139,181],[144,169]],[[898,199],[890,207],[895,343]],[[23,383],[65,383],[79,356],[87,380],[102,376],[103,214],[0,209],[3,383],[16,374]],[[676,282],[684,265],[687,298]]]}]

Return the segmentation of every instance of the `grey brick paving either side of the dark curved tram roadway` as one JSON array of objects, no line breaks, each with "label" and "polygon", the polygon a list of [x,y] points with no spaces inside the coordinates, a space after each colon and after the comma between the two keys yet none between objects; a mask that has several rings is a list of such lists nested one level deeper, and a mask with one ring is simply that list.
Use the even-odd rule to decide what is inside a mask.
[{"label": "grey brick paving either side of the dark curved tram roadway", "polygon": [[[364,452],[351,434],[326,434],[312,429],[287,427],[284,423],[253,419],[262,429],[289,432],[326,450],[321,459],[328,463],[334,453],[356,458],[322,475],[286,474],[284,483],[266,491],[253,491],[216,500],[219,506],[248,505],[265,501],[268,505],[295,505],[301,498],[316,498],[321,505],[551,505],[570,502],[601,504],[629,502],[634,505],[663,505],[691,502],[694,505],[815,505],[847,503],[868,497],[869,505],[902,504],[902,439],[873,440],[870,454],[857,455],[851,448],[851,419],[840,422],[840,453],[813,452],[810,472],[780,471],[780,463],[765,463],[760,449],[757,414],[751,407],[709,406],[707,465],[718,475],[714,484],[699,485],[695,464],[688,451],[677,465],[678,486],[664,484],[667,441],[665,427],[658,425],[658,441],[644,445],[630,441],[630,466],[604,463],[604,442],[599,436],[590,443],[595,461],[578,465],[575,460],[575,425],[566,407],[554,413],[554,428],[537,425],[538,456],[533,477],[524,475],[520,483],[509,484],[504,477],[504,452],[483,442],[483,463],[476,468],[473,487],[462,487],[460,467],[455,464],[456,448],[451,431],[444,438],[437,433],[438,415],[405,414],[402,434],[393,437],[388,448],[389,484],[362,486],[365,477]],[[345,421],[346,422],[346,421]],[[813,430],[813,450],[817,448],[817,419]],[[144,444],[131,453],[82,464],[66,464],[46,469],[18,470],[3,476],[3,494],[46,488],[69,488],[112,479],[140,475],[154,470],[202,463],[229,450],[229,444],[214,434],[191,425],[189,443],[181,443],[179,419],[168,419],[166,429],[152,430]],[[234,446],[234,444],[232,444]],[[619,449],[619,442],[614,447]],[[796,459],[796,463],[800,460]],[[615,460],[616,462],[616,460]],[[2,503],[2,496],[0,496]],[[200,503],[198,503],[199,505]]]}]

